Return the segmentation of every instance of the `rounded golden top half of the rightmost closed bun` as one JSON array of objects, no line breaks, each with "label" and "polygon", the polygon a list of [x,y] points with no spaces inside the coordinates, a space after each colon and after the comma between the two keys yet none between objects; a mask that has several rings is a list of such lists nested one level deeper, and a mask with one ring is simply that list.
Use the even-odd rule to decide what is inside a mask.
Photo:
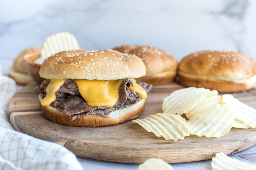
[{"label": "rounded golden top half of the rightmost closed bun", "polygon": [[256,75],[256,62],[240,52],[200,51],[184,57],[179,72],[236,81]]}]

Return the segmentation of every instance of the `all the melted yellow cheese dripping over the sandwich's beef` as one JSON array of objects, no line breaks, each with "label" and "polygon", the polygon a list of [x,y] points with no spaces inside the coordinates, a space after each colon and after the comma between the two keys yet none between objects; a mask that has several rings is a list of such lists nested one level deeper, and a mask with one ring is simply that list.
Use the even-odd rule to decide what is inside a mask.
[{"label": "all the melted yellow cheese dripping over the sandwich's beef", "polygon": [[[141,99],[147,98],[147,92],[134,78],[131,78],[134,86],[130,87],[140,94]],[[64,84],[66,79],[52,79],[46,88],[46,96],[41,102],[42,106],[50,105],[56,100],[55,92]],[[119,99],[118,90],[123,80],[84,80],[74,79],[81,96],[88,106],[108,106],[113,107]]]}]

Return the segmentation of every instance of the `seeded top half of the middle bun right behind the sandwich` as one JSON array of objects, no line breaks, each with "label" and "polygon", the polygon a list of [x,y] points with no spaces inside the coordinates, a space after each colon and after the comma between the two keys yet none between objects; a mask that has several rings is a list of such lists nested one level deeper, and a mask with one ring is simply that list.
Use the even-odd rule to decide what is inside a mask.
[{"label": "seeded top half of the middle bun right behind the sandwich", "polygon": [[146,66],[147,76],[173,71],[176,74],[177,60],[164,50],[153,46],[124,45],[113,48],[121,53],[137,55]]}]

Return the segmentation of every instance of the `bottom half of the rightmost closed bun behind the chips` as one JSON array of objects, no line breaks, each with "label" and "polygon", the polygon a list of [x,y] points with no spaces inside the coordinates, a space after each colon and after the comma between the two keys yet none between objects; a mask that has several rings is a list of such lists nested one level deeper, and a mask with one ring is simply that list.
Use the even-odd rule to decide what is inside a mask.
[{"label": "bottom half of the rightmost closed bun behind the chips", "polygon": [[217,90],[222,93],[239,92],[253,89],[256,85],[256,76],[240,81],[224,81],[212,77],[193,75],[178,72],[180,84],[187,87],[203,87],[205,89]]}]

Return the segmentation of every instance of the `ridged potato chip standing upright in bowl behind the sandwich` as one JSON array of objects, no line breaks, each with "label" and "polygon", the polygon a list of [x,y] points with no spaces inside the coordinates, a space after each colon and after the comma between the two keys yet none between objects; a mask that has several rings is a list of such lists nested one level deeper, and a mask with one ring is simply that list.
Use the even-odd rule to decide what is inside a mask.
[{"label": "ridged potato chip standing upright in bowl behind the sandwich", "polygon": [[44,41],[44,45],[41,50],[41,57],[46,58],[60,51],[78,49],[80,49],[80,45],[73,34],[68,32],[59,32],[57,34],[50,35]]}]

